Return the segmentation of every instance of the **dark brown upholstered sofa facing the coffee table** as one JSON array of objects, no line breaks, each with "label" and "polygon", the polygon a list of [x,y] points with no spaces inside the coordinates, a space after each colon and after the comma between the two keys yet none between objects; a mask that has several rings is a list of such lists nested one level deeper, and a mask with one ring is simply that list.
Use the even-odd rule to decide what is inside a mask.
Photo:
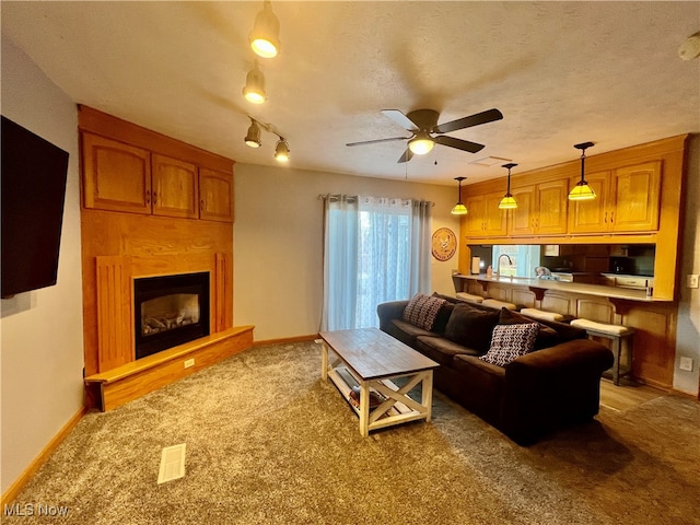
[{"label": "dark brown upholstered sofa facing the coffee table", "polygon": [[[445,299],[431,329],[404,319],[408,301],[377,306],[380,328],[440,363],[434,385],[521,445],[562,425],[590,421],[612,352],[568,324]],[[539,323],[535,349],[505,366],[483,355],[499,324]]]}]

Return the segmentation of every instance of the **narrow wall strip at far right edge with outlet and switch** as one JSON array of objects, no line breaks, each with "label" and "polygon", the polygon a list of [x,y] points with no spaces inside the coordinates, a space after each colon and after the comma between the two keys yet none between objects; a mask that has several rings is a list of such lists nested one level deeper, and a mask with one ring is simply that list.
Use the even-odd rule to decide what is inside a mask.
[{"label": "narrow wall strip at far right edge with outlet and switch", "polygon": [[[674,388],[698,395],[700,368],[700,289],[686,285],[688,273],[700,273],[700,137],[693,137],[688,148],[688,176],[686,178],[686,219],[680,249],[680,304],[674,363]],[[680,358],[692,359],[692,371],[678,368]]]}]

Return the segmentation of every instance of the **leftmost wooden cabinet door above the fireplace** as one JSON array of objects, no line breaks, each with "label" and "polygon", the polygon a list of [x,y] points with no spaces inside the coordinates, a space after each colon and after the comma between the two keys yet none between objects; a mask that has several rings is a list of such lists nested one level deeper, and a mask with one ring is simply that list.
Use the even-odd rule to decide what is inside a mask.
[{"label": "leftmost wooden cabinet door above the fireplace", "polygon": [[151,213],[151,162],[147,150],[84,132],[85,208]]}]

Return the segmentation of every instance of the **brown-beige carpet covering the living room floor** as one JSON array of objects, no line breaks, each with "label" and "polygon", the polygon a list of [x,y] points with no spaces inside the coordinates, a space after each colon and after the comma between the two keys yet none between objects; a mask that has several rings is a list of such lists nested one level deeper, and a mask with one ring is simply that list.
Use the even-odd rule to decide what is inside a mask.
[{"label": "brown-beige carpet covering the living room floor", "polygon": [[[432,423],[361,438],[319,373],[317,345],[265,346],[90,413],[15,500],[35,515],[2,523],[700,524],[691,399],[603,408],[523,448],[436,393]],[[158,485],[178,443],[186,475]]]}]

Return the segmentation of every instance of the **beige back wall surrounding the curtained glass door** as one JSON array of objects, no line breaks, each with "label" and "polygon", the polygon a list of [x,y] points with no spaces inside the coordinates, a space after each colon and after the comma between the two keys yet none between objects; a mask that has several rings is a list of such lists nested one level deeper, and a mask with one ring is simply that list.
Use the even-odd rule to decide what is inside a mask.
[{"label": "beige back wall surrounding the curtained glass door", "polygon": [[[353,177],[293,167],[234,166],[234,324],[255,325],[255,340],[317,334],[323,302],[320,194],[372,195],[435,202],[432,230],[459,233],[450,214],[457,188]],[[455,183],[456,184],[456,183]],[[432,258],[433,290],[454,294],[447,261]]]}]

